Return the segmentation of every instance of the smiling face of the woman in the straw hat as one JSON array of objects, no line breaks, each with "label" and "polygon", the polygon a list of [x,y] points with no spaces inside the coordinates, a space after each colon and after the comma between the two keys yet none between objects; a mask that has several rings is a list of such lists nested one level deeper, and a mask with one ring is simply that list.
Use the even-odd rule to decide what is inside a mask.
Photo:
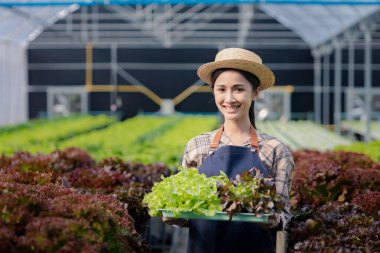
[{"label": "smiling face of the woman in the straw hat", "polygon": [[225,120],[249,118],[249,107],[256,94],[252,85],[238,71],[224,71],[215,80],[215,103]]}]

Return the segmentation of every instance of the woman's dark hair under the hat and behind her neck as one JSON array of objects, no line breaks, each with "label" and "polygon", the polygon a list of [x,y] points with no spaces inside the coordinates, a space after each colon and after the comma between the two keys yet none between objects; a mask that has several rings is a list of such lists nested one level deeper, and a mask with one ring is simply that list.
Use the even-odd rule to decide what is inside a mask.
[{"label": "woman's dark hair under the hat and behind her neck", "polygon": [[[252,90],[256,91],[257,88],[260,86],[260,80],[252,73],[249,73],[244,70],[240,69],[232,69],[232,68],[224,68],[224,69],[217,69],[211,74],[211,88],[214,89],[215,81],[216,79],[222,74],[224,71],[227,70],[234,70],[239,72],[241,75],[244,76],[245,79],[252,85]],[[252,101],[251,106],[249,107],[249,121],[251,122],[251,125],[256,129],[256,123],[255,123],[255,101]]]}]

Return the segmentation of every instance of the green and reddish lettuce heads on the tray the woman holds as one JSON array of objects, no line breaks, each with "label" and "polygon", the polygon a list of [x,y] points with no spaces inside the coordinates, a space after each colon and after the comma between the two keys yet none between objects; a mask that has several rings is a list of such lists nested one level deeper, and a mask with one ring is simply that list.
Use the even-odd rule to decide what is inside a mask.
[{"label": "green and reddish lettuce heads on the tray the woman holds", "polygon": [[234,179],[223,171],[219,176],[206,177],[196,168],[181,169],[176,175],[161,178],[143,200],[151,216],[159,215],[161,210],[172,212],[174,217],[183,212],[213,216],[223,211],[232,218],[236,213],[272,215],[283,207],[273,178],[264,178],[257,169]]}]

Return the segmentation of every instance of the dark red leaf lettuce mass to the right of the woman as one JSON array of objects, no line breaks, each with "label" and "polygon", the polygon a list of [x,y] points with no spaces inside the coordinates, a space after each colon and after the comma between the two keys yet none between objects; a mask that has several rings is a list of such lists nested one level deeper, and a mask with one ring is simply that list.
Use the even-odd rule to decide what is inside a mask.
[{"label": "dark red leaf lettuce mass to the right of the woman", "polygon": [[343,151],[294,158],[290,252],[380,252],[380,163]]}]

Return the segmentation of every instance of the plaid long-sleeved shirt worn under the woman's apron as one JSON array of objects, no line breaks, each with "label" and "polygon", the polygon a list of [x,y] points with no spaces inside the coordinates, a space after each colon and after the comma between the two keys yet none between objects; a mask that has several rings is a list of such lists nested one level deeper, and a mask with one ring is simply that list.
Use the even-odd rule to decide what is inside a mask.
[{"label": "plaid long-sleeved shirt worn under the woman's apron", "polygon": [[[198,168],[210,153],[210,145],[217,130],[201,134],[191,139],[185,148],[182,166],[184,168]],[[274,178],[276,192],[285,201],[285,208],[281,214],[283,225],[286,226],[291,218],[289,206],[289,191],[293,179],[294,161],[290,150],[285,144],[274,137],[260,133],[256,130],[259,143],[259,157],[269,174]],[[223,132],[220,138],[219,147],[232,145],[232,141]],[[250,147],[250,139],[246,140],[244,147]]]}]

